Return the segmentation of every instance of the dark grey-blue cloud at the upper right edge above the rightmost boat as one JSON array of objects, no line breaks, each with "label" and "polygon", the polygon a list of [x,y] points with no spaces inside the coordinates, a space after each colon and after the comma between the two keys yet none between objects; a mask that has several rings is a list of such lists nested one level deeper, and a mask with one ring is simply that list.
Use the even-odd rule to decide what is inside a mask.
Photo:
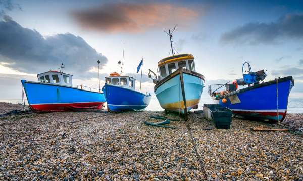
[{"label": "dark grey-blue cloud at the upper right edge above the rightmost boat", "polygon": [[248,23],[221,36],[221,42],[234,44],[274,44],[280,38],[303,38],[303,14],[287,14],[271,23]]}]

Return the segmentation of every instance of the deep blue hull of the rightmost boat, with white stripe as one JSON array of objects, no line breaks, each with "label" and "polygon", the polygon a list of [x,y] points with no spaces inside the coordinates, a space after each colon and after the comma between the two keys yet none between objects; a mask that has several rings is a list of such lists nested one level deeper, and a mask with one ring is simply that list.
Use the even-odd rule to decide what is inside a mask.
[{"label": "deep blue hull of the rightmost boat, with white stripe", "polygon": [[222,102],[223,98],[215,100],[221,106],[231,109],[235,115],[283,121],[287,113],[288,96],[293,86],[293,78],[284,77],[278,79],[278,82],[273,80],[227,94],[226,103]]}]

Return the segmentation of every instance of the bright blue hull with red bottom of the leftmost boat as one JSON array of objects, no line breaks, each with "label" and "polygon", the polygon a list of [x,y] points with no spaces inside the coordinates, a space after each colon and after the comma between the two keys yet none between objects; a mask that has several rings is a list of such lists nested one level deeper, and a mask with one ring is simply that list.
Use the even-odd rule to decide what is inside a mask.
[{"label": "bright blue hull with red bottom of the leftmost boat", "polygon": [[35,112],[100,109],[105,103],[103,93],[64,85],[21,80],[29,107]]}]

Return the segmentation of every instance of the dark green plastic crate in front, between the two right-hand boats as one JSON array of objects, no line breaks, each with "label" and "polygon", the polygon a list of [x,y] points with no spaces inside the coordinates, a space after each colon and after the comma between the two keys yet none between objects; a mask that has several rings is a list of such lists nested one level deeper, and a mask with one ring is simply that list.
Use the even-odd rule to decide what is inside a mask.
[{"label": "dark green plastic crate in front, between the two right-hand boats", "polygon": [[232,112],[226,107],[210,108],[217,129],[230,129]]}]

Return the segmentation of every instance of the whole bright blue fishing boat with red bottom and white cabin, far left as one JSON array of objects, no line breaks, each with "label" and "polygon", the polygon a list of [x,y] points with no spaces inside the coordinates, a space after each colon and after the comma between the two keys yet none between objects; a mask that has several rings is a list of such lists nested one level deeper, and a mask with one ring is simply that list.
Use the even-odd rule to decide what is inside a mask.
[{"label": "whole bright blue fishing boat with red bottom and white cabin, far left", "polygon": [[29,107],[34,112],[100,109],[106,102],[103,93],[72,86],[72,75],[48,71],[37,75],[38,82],[21,80]]}]

